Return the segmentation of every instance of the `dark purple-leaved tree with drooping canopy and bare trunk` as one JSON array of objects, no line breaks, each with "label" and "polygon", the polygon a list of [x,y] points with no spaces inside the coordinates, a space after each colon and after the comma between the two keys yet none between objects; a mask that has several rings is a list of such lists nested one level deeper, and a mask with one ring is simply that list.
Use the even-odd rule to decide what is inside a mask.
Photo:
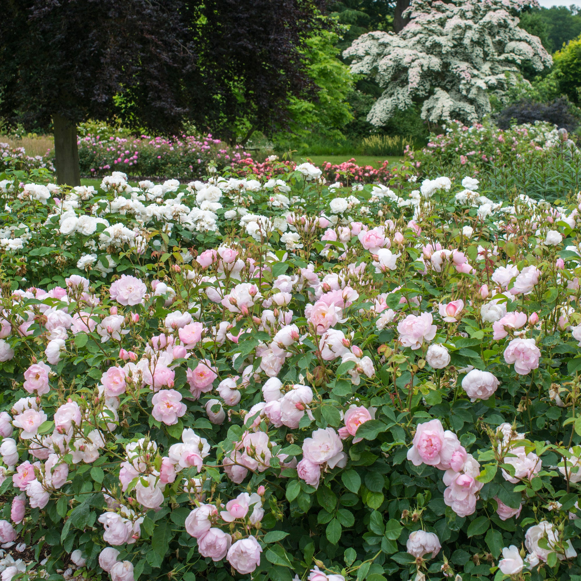
[{"label": "dark purple-leaved tree with drooping canopy and bare trunk", "polygon": [[300,49],[317,26],[311,0],[7,0],[0,116],[52,122],[69,185],[80,184],[76,125],[89,118],[157,134],[185,119],[231,140],[242,124],[269,133],[291,95],[314,95]]}]

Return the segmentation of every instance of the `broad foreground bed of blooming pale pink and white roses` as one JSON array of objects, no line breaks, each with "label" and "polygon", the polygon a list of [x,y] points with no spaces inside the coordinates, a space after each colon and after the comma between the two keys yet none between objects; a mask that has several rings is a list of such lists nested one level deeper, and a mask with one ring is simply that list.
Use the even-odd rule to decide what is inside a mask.
[{"label": "broad foreground bed of blooming pale pink and white roses", "polygon": [[0,182],[2,581],[575,581],[581,200],[277,167]]}]

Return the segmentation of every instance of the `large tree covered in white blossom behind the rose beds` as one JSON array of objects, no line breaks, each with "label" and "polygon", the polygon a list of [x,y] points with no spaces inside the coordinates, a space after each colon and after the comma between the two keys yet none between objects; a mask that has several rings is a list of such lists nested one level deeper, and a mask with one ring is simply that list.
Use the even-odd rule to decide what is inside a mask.
[{"label": "large tree covered in white blossom behind the rose beds", "polygon": [[551,56],[513,16],[523,0],[412,0],[410,23],[398,34],[361,35],[343,55],[352,71],[371,74],[383,95],[367,120],[383,125],[397,109],[423,100],[422,119],[474,122],[490,112],[490,92],[503,101],[528,63],[543,70]]}]

